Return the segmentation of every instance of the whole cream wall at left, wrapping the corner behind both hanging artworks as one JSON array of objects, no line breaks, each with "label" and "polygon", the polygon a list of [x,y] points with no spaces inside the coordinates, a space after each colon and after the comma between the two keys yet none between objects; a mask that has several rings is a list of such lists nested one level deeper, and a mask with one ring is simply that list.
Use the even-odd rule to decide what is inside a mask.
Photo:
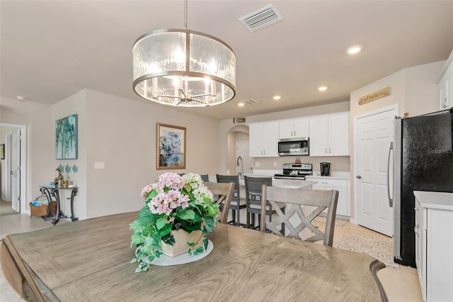
[{"label": "whole cream wall at left, wrapping the corner behind both hanging artworks", "polygon": [[[80,219],[139,210],[142,187],[161,173],[219,171],[219,123],[211,118],[91,90],[52,106],[1,99],[0,108],[1,123],[15,123],[20,116],[27,125],[26,200],[40,195],[40,184],[55,179],[59,164],[76,164],[79,172],[68,176],[80,187],[74,203]],[[78,115],[78,159],[55,160],[55,121],[71,114]],[[156,123],[187,128],[186,169],[156,169]],[[94,169],[94,162],[105,162],[105,169]]]}]

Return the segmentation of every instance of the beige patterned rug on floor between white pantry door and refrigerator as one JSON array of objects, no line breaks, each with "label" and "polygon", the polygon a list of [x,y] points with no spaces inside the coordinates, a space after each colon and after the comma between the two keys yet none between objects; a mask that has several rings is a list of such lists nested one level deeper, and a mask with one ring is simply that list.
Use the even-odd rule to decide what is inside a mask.
[{"label": "beige patterned rug on floor between white pantry door and refrigerator", "polygon": [[391,238],[347,233],[341,238],[338,248],[354,252],[365,252],[384,263],[386,267],[399,269],[399,264],[394,262],[394,242]]}]

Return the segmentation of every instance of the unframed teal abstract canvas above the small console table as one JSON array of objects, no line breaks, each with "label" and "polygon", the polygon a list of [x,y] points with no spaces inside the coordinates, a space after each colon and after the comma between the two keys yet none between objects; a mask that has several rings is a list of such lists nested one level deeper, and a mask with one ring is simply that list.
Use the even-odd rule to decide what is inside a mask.
[{"label": "unframed teal abstract canvas above the small console table", "polygon": [[55,158],[77,159],[77,115],[55,121]]}]

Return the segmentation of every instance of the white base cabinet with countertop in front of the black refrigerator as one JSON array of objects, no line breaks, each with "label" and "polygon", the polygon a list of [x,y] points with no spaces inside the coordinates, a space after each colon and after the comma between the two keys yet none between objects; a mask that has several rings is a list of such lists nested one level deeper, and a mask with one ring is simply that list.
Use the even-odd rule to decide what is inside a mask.
[{"label": "white base cabinet with countertop in front of the black refrigerator", "polygon": [[423,301],[453,301],[453,193],[413,193],[415,264]]}]

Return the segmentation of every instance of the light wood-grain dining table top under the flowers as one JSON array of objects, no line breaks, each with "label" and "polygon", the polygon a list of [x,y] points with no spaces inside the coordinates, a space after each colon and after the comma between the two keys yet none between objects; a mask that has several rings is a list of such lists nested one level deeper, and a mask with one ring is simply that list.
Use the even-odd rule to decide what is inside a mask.
[{"label": "light wood-grain dining table top under the flowers", "polygon": [[45,301],[386,301],[376,276],[385,266],[365,253],[221,223],[206,257],[135,273],[135,219],[137,212],[81,220],[2,244]]}]

